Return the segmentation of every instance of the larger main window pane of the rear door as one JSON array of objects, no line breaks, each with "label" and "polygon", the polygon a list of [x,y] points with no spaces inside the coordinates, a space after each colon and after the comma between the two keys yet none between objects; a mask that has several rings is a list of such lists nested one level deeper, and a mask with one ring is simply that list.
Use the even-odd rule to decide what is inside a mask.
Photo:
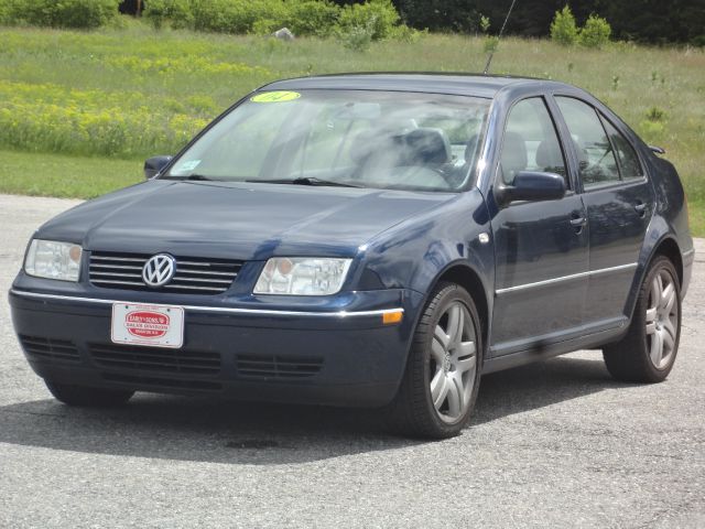
[{"label": "larger main window pane of the rear door", "polygon": [[619,168],[607,132],[593,107],[571,97],[556,97],[571,131],[586,190],[619,182]]}]

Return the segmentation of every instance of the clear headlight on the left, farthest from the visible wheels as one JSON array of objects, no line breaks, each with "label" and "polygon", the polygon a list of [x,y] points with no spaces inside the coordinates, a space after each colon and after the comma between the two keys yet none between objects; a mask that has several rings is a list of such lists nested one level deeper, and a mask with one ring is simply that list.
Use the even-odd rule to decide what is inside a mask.
[{"label": "clear headlight on the left, farthest from the visible wheels", "polygon": [[24,271],[36,278],[78,281],[80,246],[70,242],[34,239],[24,260]]}]

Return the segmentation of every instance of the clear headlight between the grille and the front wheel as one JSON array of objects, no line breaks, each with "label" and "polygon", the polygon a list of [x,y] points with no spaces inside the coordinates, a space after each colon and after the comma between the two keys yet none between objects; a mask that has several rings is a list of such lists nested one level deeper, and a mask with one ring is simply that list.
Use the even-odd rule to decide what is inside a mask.
[{"label": "clear headlight between the grille and the front wheel", "polygon": [[351,259],[275,257],[267,261],[256,294],[329,295],[343,287]]}]

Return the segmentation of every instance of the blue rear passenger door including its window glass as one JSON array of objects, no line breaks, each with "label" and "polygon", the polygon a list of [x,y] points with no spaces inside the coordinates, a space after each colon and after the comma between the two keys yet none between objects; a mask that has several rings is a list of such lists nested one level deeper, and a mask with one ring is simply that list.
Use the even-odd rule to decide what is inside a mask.
[{"label": "blue rear passenger door including its window glass", "polygon": [[653,188],[633,147],[592,105],[556,97],[577,155],[589,231],[585,323],[625,316],[653,210]]}]

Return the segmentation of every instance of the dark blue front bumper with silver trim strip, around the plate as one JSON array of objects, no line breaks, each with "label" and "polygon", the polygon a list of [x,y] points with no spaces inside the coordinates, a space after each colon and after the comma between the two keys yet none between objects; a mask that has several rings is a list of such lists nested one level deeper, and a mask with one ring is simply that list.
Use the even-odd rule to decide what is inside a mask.
[{"label": "dark blue front bumper with silver trim strip, around the plate", "polygon": [[[122,291],[111,300],[76,294],[17,285],[10,291],[14,330],[43,378],[355,407],[383,406],[394,397],[422,302],[420,294],[400,290],[360,293],[350,311],[186,304],[184,346],[174,350],[110,342],[112,303],[149,302],[143,295]],[[392,306],[390,299],[397,300]],[[380,303],[388,303],[387,309]],[[403,309],[404,317],[384,325],[382,314],[392,309]]]}]

